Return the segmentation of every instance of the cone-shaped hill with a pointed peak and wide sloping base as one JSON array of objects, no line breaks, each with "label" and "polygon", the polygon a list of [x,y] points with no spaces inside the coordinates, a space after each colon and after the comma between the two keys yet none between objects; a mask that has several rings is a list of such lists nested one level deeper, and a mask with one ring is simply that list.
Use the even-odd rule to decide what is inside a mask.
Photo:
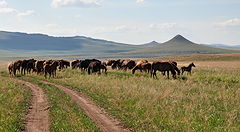
[{"label": "cone-shaped hill with a pointed peak and wide sloping base", "polygon": [[166,56],[180,54],[216,54],[216,53],[231,53],[232,50],[209,47],[202,44],[193,43],[181,35],[177,35],[171,40],[161,43],[160,45],[130,51],[124,53],[132,56]]}]

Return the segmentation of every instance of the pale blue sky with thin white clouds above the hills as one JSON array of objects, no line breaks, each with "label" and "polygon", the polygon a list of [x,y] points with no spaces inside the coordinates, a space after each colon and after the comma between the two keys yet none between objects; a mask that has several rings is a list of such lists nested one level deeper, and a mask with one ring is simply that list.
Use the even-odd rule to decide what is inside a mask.
[{"label": "pale blue sky with thin white clouds above the hills", "polygon": [[240,0],[0,0],[0,30],[144,44],[240,44]]}]

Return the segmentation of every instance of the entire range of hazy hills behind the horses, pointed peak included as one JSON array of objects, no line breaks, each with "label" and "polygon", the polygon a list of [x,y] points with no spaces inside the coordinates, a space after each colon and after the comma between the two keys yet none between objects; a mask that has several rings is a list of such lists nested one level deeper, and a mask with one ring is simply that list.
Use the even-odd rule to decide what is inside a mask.
[{"label": "entire range of hazy hills behind the horses, pointed peak included", "polygon": [[154,57],[179,54],[231,53],[233,50],[200,45],[177,35],[165,43],[117,43],[85,36],[53,37],[0,31],[0,56],[95,55]]}]

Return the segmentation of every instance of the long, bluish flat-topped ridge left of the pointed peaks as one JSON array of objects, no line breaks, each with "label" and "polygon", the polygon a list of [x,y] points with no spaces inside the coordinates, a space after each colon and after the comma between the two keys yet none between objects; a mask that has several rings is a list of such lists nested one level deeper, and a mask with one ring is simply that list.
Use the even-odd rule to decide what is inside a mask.
[{"label": "long, bluish flat-topped ridge left of the pointed peaks", "polygon": [[[100,54],[133,51],[152,45],[130,45],[84,36],[53,37],[44,34],[27,34],[0,31],[0,50],[10,54]],[[0,53],[1,54],[1,53]]]}]

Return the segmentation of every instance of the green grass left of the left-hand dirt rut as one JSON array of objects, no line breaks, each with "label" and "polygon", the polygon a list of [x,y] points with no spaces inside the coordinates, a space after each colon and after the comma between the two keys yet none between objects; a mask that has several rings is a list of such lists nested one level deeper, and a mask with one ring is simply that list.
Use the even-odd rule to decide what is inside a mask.
[{"label": "green grass left of the left-hand dirt rut", "polygon": [[0,75],[0,131],[19,132],[31,98],[30,89]]}]

